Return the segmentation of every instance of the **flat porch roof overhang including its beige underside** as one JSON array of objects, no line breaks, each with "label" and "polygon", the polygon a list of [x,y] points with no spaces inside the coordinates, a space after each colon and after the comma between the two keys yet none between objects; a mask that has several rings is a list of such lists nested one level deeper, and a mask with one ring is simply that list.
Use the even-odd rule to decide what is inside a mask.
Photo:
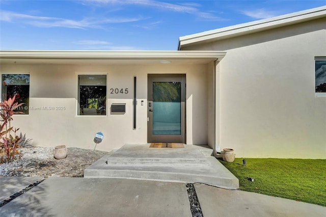
[{"label": "flat porch roof overhang including its beige underside", "polygon": [[207,64],[220,61],[222,51],[82,51],[2,50],[1,64]]}]

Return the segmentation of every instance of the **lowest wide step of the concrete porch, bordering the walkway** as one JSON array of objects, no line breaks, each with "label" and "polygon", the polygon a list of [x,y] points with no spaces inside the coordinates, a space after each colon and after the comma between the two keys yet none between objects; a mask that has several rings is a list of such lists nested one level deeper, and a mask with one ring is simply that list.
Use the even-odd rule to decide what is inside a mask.
[{"label": "lowest wide step of the concrete porch, bordering the walkway", "polygon": [[126,178],[168,182],[205,183],[225,189],[239,188],[239,180],[216,158],[210,157],[210,166],[121,166],[107,165],[106,157],[99,159],[84,171],[84,178]]}]

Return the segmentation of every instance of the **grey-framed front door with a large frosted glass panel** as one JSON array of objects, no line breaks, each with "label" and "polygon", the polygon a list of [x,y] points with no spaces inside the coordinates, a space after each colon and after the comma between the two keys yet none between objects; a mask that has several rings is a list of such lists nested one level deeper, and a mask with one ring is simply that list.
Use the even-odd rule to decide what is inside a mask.
[{"label": "grey-framed front door with a large frosted glass panel", "polygon": [[184,143],[185,74],[149,74],[147,142]]}]

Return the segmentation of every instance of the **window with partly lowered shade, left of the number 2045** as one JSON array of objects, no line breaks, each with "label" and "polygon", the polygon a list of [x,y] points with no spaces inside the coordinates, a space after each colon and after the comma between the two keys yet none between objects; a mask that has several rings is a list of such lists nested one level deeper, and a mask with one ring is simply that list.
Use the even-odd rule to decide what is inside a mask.
[{"label": "window with partly lowered shade, left of the number 2045", "polygon": [[78,88],[78,115],[106,115],[106,75],[79,75]]}]

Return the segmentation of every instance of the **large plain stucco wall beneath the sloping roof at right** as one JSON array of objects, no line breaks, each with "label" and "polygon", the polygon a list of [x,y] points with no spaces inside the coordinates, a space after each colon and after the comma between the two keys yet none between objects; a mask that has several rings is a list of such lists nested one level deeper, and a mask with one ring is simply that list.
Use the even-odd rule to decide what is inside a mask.
[{"label": "large plain stucco wall beneath the sloping roof at right", "polygon": [[326,158],[326,97],[314,57],[326,56],[326,19],[185,46],[227,51],[220,63],[220,146],[236,157]]}]

